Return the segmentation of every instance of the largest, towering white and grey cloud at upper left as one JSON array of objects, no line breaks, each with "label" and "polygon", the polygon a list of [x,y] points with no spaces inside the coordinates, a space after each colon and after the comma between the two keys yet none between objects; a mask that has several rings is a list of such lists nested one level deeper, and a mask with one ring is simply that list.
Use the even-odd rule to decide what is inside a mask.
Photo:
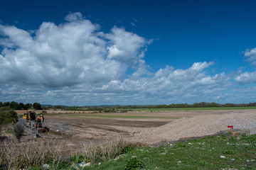
[{"label": "largest, towering white and grey cloud at upper left", "polygon": [[[100,32],[100,26],[71,13],[68,23],[44,22],[35,35],[0,25],[1,82],[33,82],[48,87],[105,84],[122,79],[129,66],[139,66],[146,40],[123,28]],[[139,67],[134,67],[139,69]]]}]

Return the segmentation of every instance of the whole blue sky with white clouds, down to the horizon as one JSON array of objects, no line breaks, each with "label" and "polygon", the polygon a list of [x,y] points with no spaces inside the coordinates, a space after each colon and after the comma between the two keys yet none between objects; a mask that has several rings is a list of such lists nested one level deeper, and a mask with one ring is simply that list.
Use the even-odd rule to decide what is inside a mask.
[{"label": "whole blue sky with white clouds, down to the horizon", "polygon": [[1,1],[0,101],[256,101],[256,1]]}]

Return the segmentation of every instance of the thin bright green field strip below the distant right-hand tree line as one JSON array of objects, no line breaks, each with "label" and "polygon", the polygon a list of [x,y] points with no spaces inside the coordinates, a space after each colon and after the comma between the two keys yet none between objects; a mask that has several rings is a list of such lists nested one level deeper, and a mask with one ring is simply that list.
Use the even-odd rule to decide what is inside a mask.
[{"label": "thin bright green field strip below the distant right-hand tree line", "polygon": [[252,107],[215,107],[215,108],[124,108],[120,110],[132,111],[208,111],[208,110],[243,110],[243,109],[256,109]]}]

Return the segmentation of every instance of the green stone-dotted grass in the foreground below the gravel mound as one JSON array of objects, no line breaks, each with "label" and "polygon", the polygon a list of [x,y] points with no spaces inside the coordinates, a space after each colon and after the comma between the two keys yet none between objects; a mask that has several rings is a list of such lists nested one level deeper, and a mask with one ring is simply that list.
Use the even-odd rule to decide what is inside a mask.
[{"label": "green stone-dotted grass in the foreground below the gravel mound", "polygon": [[161,147],[139,147],[110,162],[84,169],[124,169],[132,157],[143,169],[256,169],[256,135],[209,136]]}]

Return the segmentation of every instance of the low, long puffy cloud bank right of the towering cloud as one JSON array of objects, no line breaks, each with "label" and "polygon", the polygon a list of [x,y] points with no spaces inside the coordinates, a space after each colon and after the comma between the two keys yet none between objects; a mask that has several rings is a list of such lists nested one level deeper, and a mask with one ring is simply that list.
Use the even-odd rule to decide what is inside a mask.
[{"label": "low, long puffy cloud bank right of the towering cloud", "polygon": [[110,81],[109,84],[102,86],[102,90],[118,93],[136,91],[137,94],[146,94],[158,99],[176,100],[178,96],[183,99],[187,99],[188,96],[201,96],[203,99],[206,96],[215,96],[229,85],[229,78],[224,73],[210,77],[204,72],[204,69],[212,64],[213,62],[196,62],[188,69],[166,66],[165,69],[159,69],[154,77]]}]

